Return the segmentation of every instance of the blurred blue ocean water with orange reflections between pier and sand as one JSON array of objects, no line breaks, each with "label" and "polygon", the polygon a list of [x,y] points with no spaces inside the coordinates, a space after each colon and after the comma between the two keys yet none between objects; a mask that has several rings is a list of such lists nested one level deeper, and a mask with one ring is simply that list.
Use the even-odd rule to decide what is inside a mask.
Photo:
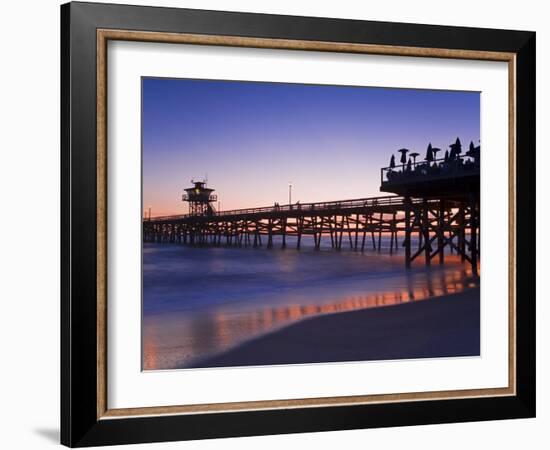
[{"label": "blurred blue ocean water with orange reflections between pier and sand", "polygon": [[[446,255],[404,268],[403,249],[308,243],[296,250],[144,244],[143,369],[183,369],[242,342],[320,314],[424,300],[478,286]],[[384,248],[384,246],[386,248]]]}]

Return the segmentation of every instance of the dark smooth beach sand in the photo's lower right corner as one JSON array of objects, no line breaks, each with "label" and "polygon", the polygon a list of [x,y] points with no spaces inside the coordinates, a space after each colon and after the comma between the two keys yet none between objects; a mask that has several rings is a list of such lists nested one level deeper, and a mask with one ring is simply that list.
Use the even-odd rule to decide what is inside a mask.
[{"label": "dark smooth beach sand in the photo's lower right corner", "polygon": [[193,367],[477,356],[479,288],[394,306],[313,317]]}]

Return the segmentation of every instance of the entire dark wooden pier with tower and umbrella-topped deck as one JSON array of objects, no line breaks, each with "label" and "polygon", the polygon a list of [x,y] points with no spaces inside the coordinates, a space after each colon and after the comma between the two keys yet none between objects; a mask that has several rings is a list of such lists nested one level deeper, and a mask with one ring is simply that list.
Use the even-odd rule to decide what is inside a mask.
[{"label": "entire dark wooden pier with tower and umbrella-topped deck", "polygon": [[417,162],[418,153],[400,149],[401,166],[392,155],[390,166],[380,171],[380,190],[394,194],[388,196],[216,211],[213,189],[193,182],[183,196],[190,213],[145,219],[143,240],[270,249],[275,236],[282,248],[294,236],[297,249],[309,238],[315,249],[326,242],[335,250],[381,251],[382,236],[388,236],[388,251],[402,247],[407,268],[417,258],[426,265],[433,260],[443,264],[449,252],[460,255],[477,274],[480,147],[471,143],[462,154],[457,138],[437,159],[439,151],[430,144],[424,160]]}]

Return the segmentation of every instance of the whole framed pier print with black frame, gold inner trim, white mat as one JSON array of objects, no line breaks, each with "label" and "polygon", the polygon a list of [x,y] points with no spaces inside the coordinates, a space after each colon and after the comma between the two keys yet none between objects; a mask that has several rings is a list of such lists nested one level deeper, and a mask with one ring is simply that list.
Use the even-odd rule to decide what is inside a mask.
[{"label": "whole framed pier print with black frame, gold inner trim, white mat", "polygon": [[62,443],[535,414],[535,33],[70,3]]}]

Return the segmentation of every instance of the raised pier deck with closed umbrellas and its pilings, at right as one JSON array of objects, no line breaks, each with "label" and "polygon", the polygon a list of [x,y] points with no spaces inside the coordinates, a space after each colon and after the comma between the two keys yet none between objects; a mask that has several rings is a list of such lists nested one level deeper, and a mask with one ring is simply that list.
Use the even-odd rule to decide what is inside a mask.
[{"label": "raised pier deck with closed umbrellas and its pilings, at right", "polygon": [[[450,152],[436,159],[440,149],[428,146],[426,157],[400,149],[401,166],[380,170],[380,191],[403,197],[405,265],[424,255],[426,265],[434,258],[445,261],[445,251],[456,252],[478,274],[480,225],[480,146],[470,144],[462,154],[457,138]],[[410,153],[407,159],[407,153]],[[412,157],[412,158],[411,158]],[[418,235],[413,249],[412,237]]]}]

